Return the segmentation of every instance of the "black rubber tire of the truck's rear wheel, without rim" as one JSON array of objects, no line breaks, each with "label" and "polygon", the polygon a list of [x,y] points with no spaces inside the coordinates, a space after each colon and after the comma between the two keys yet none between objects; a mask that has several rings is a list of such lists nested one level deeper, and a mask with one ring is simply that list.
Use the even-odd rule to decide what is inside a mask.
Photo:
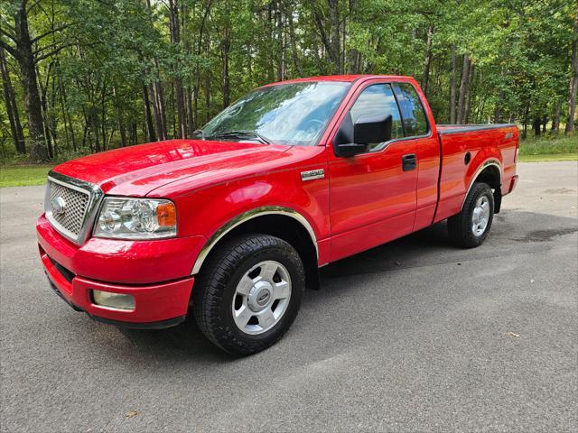
[{"label": "black rubber tire of the truck's rear wheel, without rim", "polygon": [[[486,196],[489,201],[489,217],[486,229],[480,235],[472,230],[472,217],[477,201],[481,196]],[[474,248],[483,244],[488,237],[489,229],[494,217],[494,195],[486,183],[476,182],[470,189],[468,197],[461,207],[458,215],[448,218],[448,233],[453,242],[462,248]]]}]

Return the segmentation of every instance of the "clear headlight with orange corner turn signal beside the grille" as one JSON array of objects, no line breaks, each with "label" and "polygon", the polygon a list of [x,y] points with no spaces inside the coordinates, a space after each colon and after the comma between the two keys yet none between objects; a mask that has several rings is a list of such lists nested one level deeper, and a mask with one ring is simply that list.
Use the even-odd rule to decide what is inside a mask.
[{"label": "clear headlight with orange corner turn signal beside the grille", "polygon": [[174,203],[161,198],[104,199],[94,227],[96,237],[161,239],[177,235]]}]

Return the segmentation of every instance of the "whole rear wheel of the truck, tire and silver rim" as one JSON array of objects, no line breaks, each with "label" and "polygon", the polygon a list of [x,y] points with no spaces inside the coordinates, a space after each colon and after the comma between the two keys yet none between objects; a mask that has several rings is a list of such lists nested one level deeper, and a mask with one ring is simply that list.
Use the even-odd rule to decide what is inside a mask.
[{"label": "whole rear wheel of the truck, tire and silver rim", "polygon": [[494,217],[494,195],[486,183],[476,182],[458,215],[448,218],[448,233],[463,248],[479,246],[488,237]]}]

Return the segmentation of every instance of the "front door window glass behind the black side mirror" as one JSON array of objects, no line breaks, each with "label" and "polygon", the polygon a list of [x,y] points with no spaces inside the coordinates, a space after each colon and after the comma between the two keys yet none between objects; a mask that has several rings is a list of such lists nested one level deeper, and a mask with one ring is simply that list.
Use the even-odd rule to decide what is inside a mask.
[{"label": "front door window glass behind the black side mirror", "polygon": [[[394,97],[394,92],[388,84],[375,84],[364,89],[350,109],[353,123],[362,115],[373,115],[375,113],[391,115],[393,121],[391,128],[392,139],[404,136],[396,97]],[[374,150],[378,148],[379,144],[381,143],[370,143],[369,149]]]}]

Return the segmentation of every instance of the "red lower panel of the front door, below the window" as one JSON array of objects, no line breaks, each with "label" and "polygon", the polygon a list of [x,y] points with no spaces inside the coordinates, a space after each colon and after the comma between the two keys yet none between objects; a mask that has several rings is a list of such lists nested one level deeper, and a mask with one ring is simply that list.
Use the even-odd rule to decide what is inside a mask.
[{"label": "red lower panel of the front door, below the window", "polygon": [[417,170],[402,170],[415,143],[330,161],[331,261],[411,233]]}]

